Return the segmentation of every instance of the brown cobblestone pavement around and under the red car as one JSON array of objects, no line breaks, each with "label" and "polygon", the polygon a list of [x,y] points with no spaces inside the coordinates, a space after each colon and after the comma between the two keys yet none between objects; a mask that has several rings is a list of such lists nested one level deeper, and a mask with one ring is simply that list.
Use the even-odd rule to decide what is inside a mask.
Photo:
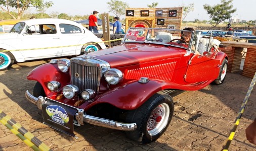
[{"label": "brown cobblestone pavement around and under the red car", "polygon": [[[42,124],[41,112],[25,99],[35,82],[26,80],[34,67],[49,60],[18,63],[0,71],[0,109],[53,150],[221,150],[252,79],[227,73],[223,85],[209,85],[173,97],[175,115],[155,142],[139,144],[123,131],[86,124],[75,128],[77,139]],[[256,88],[252,91],[230,150],[256,150],[245,128],[256,117]],[[0,150],[32,150],[0,123]]]}]

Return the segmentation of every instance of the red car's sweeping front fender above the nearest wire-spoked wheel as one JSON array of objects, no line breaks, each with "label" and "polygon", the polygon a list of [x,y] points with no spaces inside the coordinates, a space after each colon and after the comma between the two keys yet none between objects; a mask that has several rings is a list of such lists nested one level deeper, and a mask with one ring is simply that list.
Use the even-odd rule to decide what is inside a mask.
[{"label": "red car's sweeping front fender above the nearest wire-spoked wheel", "polygon": [[117,87],[114,90],[108,91],[103,95],[100,95],[100,97],[90,105],[85,103],[79,108],[84,108],[87,110],[96,104],[108,103],[119,109],[134,110],[140,107],[155,93],[168,87],[170,87],[170,84],[162,81],[150,80],[146,84],[133,81]]}]

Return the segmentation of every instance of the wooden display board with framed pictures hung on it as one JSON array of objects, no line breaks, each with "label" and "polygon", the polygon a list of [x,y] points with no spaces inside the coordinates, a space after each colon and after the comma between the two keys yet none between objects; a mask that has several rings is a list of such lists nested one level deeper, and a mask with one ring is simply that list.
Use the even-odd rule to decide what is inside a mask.
[{"label": "wooden display board with framed pictures hung on it", "polygon": [[182,11],[183,8],[127,8],[125,27],[181,29]]}]

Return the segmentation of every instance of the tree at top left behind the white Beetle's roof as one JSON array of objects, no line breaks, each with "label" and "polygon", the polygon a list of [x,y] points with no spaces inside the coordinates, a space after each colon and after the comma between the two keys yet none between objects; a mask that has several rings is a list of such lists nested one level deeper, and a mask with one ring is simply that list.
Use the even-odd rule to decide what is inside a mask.
[{"label": "tree at top left behind the white Beetle's roof", "polygon": [[[12,16],[13,19],[21,19],[22,14],[28,8],[35,7],[38,8],[50,8],[53,5],[53,2],[44,2],[44,0],[1,0],[0,9],[5,13]],[[11,13],[11,9],[17,9],[17,16]]]}]

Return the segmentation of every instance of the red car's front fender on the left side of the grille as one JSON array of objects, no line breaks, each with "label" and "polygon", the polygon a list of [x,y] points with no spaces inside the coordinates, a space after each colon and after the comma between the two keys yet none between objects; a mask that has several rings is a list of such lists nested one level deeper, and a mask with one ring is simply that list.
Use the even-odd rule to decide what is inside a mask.
[{"label": "red car's front fender on the left side of the grille", "polygon": [[41,84],[44,88],[46,95],[51,91],[47,88],[47,83],[50,81],[58,81],[61,86],[65,86],[70,83],[69,72],[64,73],[59,70],[57,63],[46,63],[37,66],[27,75],[28,80],[34,80]]}]

